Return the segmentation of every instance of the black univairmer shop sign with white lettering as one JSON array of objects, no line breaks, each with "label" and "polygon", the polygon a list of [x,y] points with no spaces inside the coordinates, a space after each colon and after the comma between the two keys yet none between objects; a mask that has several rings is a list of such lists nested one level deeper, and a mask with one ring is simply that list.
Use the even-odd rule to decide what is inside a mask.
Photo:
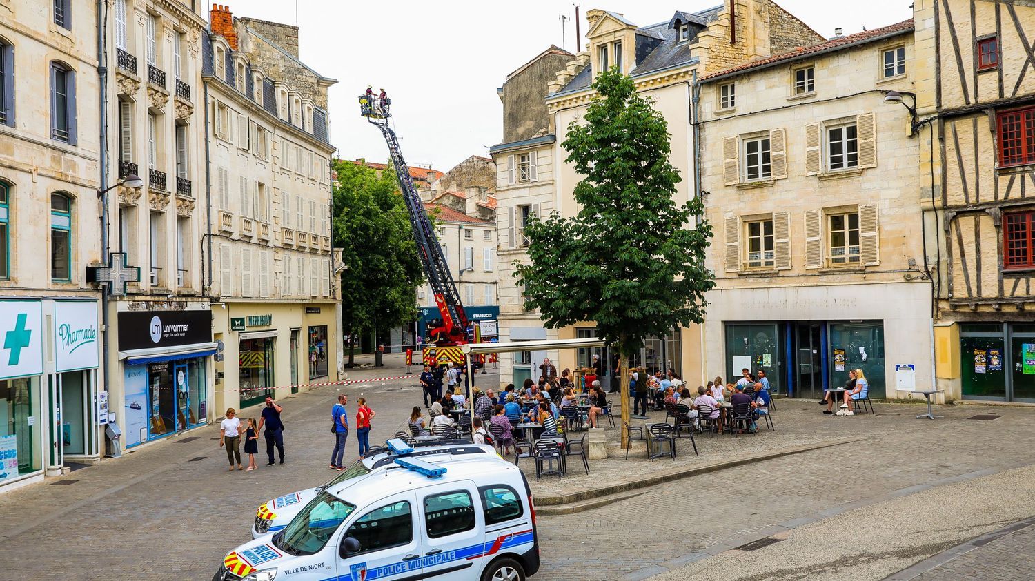
[{"label": "black univairmer shop sign with white lettering", "polygon": [[119,350],[208,343],[212,311],[122,311]]}]

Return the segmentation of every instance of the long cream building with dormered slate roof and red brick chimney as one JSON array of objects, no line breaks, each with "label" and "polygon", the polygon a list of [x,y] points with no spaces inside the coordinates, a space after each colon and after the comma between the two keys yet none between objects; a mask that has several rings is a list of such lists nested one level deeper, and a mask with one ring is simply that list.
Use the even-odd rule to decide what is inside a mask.
[{"label": "long cream building with dormered slate roof and red brick chimney", "polygon": [[298,29],[211,13],[204,36],[215,408],[337,380],[341,290],[331,247],[324,78]]}]

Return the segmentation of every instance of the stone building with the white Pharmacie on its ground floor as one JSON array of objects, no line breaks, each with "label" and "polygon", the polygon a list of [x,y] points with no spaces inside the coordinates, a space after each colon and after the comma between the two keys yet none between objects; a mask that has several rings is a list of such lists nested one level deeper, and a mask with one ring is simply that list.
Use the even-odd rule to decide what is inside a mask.
[{"label": "stone building with the white Pharmacie on its ground floor", "polygon": [[96,6],[62,7],[0,2],[0,491],[103,452]]}]

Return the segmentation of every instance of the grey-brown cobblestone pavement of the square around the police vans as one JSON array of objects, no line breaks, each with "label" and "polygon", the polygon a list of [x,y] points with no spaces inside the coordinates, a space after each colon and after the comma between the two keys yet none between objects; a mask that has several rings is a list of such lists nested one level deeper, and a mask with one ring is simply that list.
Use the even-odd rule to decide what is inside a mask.
[{"label": "grey-brown cobblestone pavement of the square around the police vans", "polygon": [[[353,371],[352,378],[401,375],[405,367]],[[393,366],[394,365],[394,366]],[[402,370],[402,372],[401,372]],[[480,379],[494,380],[479,375]],[[246,541],[256,507],[329,478],[329,408],[339,391],[364,395],[379,411],[372,441],[405,426],[420,402],[414,380],[325,387],[282,400],[287,463],[228,472],[217,426],[152,444],[122,459],[0,495],[4,573],[12,579],[207,579],[226,551]],[[259,408],[240,417],[257,416]],[[776,432],[699,437],[700,459],[679,442],[676,464],[692,465],[746,451],[864,437],[828,448],[644,489],[644,494],[568,516],[539,518],[543,579],[629,579],[662,573],[742,544],[782,523],[783,530],[940,479],[1016,465],[1028,450],[1035,409],[945,406],[945,420],[914,420],[918,407],[878,404],[879,416],[831,418],[810,401],[780,401]],[[970,421],[977,414],[1001,415]],[[658,416],[658,420],[661,416]],[[608,430],[611,438],[617,430]],[[355,440],[349,439],[349,451]],[[264,446],[260,444],[260,452]],[[535,482],[534,492],[579,490],[646,475],[672,460],[591,461],[589,478]],[[531,468],[522,462],[523,468]],[[578,471],[575,469],[573,472]],[[61,481],[76,481],[58,485]],[[1023,518],[1016,516],[1009,522]],[[995,527],[1002,526],[1003,523]],[[994,527],[994,528],[995,528]],[[984,530],[968,531],[962,540]],[[894,531],[889,530],[890,538]],[[893,572],[946,547],[915,555]],[[775,549],[774,549],[775,550]],[[885,573],[886,575],[887,573]]]}]

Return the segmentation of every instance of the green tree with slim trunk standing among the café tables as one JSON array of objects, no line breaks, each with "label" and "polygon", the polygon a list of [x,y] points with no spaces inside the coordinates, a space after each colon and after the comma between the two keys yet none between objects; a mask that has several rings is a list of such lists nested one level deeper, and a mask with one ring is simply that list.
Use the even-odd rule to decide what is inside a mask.
[{"label": "green tree with slim trunk standing among the caf\u00e9 tables", "polygon": [[715,284],[705,268],[712,230],[699,197],[675,202],[680,177],[669,162],[664,117],[617,69],[593,88],[597,96],[561,145],[582,176],[579,213],[533,218],[525,228],[530,262],[515,276],[548,327],[594,322],[618,349],[628,422],[629,355],[650,335],[704,320],[704,295]]}]

